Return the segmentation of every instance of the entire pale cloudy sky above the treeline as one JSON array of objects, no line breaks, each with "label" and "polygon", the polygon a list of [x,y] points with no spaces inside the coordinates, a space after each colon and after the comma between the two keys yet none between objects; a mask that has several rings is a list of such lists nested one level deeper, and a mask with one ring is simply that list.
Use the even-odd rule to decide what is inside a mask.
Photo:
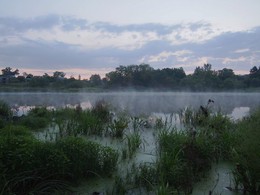
[{"label": "entire pale cloudy sky above the treeline", "polygon": [[260,66],[259,0],[1,0],[0,68],[104,77],[119,65]]}]

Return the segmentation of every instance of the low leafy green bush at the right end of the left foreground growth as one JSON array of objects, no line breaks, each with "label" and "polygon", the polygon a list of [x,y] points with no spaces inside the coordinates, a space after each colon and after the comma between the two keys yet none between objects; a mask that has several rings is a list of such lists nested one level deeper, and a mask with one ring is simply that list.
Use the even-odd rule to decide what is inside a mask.
[{"label": "low leafy green bush at the right end of the left foreground growth", "polygon": [[72,180],[93,176],[93,173],[110,175],[115,170],[118,153],[109,147],[76,137],[59,140],[57,147],[69,159]]}]

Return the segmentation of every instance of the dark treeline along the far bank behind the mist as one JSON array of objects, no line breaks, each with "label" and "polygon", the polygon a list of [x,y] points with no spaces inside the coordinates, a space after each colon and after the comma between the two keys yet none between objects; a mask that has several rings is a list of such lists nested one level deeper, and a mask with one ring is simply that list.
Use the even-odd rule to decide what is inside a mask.
[{"label": "dark treeline along the far bank behind the mist", "polygon": [[[139,90],[245,90],[260,87],[260,67],[254,66],[249,74],[235,75],[232,69],[213,70],[211,64],[196,67],[194,72],[187,75],[183,68],[154,69],[148,64],[119,66],[115,71],[106,74],[105,78],[98,74],[89,80],[66,78],[64,72],[56,71],[53,76],[33,76],[19,70],[12,71],[7,67],[0,75],[2,89],[22,88],[23,90],[75,90],[75,89],[128,89]],[[2,77],[1,77],[2,76]]]}]

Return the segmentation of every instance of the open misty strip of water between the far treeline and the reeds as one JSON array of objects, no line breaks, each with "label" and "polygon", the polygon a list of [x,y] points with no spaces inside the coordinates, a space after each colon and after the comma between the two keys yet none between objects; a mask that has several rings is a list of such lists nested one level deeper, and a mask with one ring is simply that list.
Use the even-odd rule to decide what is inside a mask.
[{"label": "open misty strip of water between the far treeline and the reeds", "polygon": [[214,100],[211,109],[230,114],[236,107],[254,108],[260,105],[260,93],[174,93],[174,92],[125,92],[125,93],[1,93],[0,99],[11,106],[75,106],[105,100],[113,107],[126,109],[131,114],[152,112],[173,113],[187,106],[195,109]]}]

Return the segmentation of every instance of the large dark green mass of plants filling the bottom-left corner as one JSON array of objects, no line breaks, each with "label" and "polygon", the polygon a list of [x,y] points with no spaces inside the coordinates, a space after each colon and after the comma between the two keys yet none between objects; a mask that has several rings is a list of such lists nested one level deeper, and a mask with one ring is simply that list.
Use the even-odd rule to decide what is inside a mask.
[{"label": "large dark green mass of plants filling the bottom-left corner", "polygon": [[1,129],[0,144],[2,194],[67,190],[68,182],[91,178],[93,173],[111,176],[118,160],[109,147],[71,136],[41,142],[21,126]]}]

